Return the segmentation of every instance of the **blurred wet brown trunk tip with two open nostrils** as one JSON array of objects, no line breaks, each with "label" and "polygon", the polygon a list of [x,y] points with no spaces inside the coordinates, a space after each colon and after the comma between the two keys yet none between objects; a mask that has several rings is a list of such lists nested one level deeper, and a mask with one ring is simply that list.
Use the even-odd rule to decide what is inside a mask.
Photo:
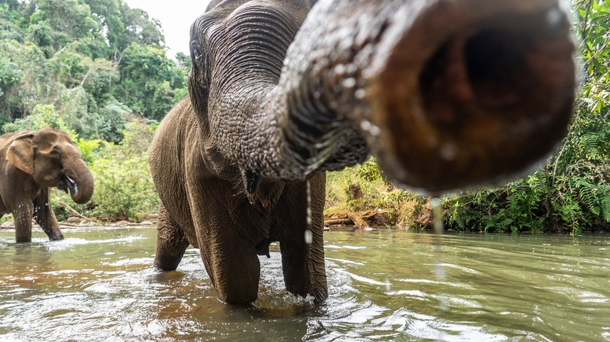
[{"label": "blurred wet brown trunk tip with two open nostrils", "polygon": [[532,1],[428,9],[404,30],[371,87],[371,145],[390,178],[433,193],[494,183],[559,144],[575,44],[567,14]]}]

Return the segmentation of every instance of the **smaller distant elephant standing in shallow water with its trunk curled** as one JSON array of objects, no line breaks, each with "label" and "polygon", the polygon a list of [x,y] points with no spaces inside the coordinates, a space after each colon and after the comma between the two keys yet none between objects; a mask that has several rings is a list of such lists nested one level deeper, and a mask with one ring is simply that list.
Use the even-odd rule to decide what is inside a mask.
[{"label": "smaller distant elephant standing in shallow water with its trunk curled", "polygon": [[49,240],[62,240],[49,189],[76,203],[93,195],[93,176],[70,136],[51,127],[0,136],[0,217],[12,213],[17,243],[32,240],[32,218]]}]

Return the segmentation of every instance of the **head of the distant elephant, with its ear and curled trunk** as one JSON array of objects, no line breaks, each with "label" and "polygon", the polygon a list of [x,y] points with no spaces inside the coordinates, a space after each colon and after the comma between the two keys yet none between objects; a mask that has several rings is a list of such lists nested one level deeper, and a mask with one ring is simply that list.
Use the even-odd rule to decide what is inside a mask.
[{"label": "head of the distant elephant, with its ear and curled trunk", "polygon": [[93,176],[68,134],[53,128],[18,133],[6,159],[44,187],[70,192],[76,203],[93,195]]}]

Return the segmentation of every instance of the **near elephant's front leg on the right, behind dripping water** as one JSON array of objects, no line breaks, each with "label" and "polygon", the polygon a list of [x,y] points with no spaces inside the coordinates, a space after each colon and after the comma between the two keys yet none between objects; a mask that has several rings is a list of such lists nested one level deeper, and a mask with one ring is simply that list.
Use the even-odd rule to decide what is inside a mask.
[{"label": "near elephant's front leg on the right, behind dripping water", "polygon": [[[280,251],[286,289],[295,295],[312,295],[316,301],[328,297],[323,237],[325,176],[325,173],[318,173],[310,179],[309,227],[306,225],[305,183],[287,184],[279,201],[275,222],[281,236]],[[290,208],[302,208],[302,211]],[[287,212],[291,214],[285,214]]]}]

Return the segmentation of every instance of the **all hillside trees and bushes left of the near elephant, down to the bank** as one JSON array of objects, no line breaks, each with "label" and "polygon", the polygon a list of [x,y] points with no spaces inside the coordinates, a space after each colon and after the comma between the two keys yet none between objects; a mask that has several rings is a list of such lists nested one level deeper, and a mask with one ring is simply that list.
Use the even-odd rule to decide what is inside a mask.
[{"label": "all hillside trees and bushes left of the near elephant, down to the bank", "polygon": [[0,2],[2,133],[64,130],[95,178],[87,204],[52,192],[58,217],[68,206],[109,220],[156,211],[146,154],[188,94],[190,57],[178,59],[165,55],[159,22],[121,0]]}]

